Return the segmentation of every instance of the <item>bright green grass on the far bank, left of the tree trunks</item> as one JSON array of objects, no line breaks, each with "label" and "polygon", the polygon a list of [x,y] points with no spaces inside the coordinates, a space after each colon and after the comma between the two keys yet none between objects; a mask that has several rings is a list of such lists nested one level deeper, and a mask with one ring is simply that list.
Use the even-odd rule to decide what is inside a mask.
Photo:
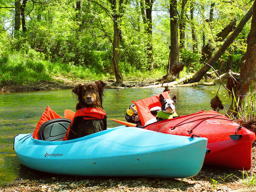
[{"label": "bright green grass on the far bank, left of the tree trunks", "polygon": [[0,84],[25,85],[38,81],[52,81],[53,76],[70,78],[104,79],[93,67],[73,66],[61,62],[51,62],[40,57],[9,55],[0,58]]}]

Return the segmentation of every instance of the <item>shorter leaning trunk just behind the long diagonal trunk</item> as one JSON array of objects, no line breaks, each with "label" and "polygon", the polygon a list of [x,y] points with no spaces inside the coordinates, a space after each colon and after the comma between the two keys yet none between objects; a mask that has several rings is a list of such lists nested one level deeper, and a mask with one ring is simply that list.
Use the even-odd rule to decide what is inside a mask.
[{"label": "shorter leaning trunk just behind the long diagonal trunk", "polygon": [[[235,28],[236,28],[236,19],[232,20],[227,26],[224,27],[224,29],[221,30],[221,32],[219,32],[216,35],[215,42],[224,41],[224,39],[227,37],[227,35],[230,34],[230,32],[232,32]],[[213,48],[211,46],[211,43],[208,43],[201,50],[202,57],[200,60],[201,61],[209,61],[209,59],[212,57],[212,52],[214,50],[215,50],[215,48]]]}]

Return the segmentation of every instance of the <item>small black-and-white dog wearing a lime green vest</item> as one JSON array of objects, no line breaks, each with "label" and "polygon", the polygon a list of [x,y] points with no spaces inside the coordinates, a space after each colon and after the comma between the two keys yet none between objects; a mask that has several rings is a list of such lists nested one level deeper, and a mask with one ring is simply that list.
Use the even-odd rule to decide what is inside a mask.
[{"label": "small black-and-white dog wearing a lime green vest", "polygon": [[172,119],[174,116],[178,116],[175,112],[175,104],[177,102],[177,96],[174,95],[172,99],[164,99],[160,94],[159,101],[161,103],[161,111],[157,113],[157,120]]}]

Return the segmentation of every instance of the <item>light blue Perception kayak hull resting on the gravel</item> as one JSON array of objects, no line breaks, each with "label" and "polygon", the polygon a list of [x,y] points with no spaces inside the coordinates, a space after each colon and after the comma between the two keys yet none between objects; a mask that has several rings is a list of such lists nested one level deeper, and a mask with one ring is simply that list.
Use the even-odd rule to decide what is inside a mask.
[{"label": "light blue Perception kayak hull resting on the gravel", "polygon": [[192,177],[201,170],[207,139],[119,126],[67,141],[15,136],[24,166],[82,176]]}]

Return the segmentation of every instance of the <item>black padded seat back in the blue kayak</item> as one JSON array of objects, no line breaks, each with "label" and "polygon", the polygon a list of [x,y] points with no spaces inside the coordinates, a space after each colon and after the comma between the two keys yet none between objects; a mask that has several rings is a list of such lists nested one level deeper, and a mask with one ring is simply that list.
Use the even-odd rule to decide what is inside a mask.
[{"label": "black padded seat back in the blue kayak", "polygon": [[38,139],[44,141],[62,141],[71,123],[70,119],[58,118],[44,122],[38,130]]}]

